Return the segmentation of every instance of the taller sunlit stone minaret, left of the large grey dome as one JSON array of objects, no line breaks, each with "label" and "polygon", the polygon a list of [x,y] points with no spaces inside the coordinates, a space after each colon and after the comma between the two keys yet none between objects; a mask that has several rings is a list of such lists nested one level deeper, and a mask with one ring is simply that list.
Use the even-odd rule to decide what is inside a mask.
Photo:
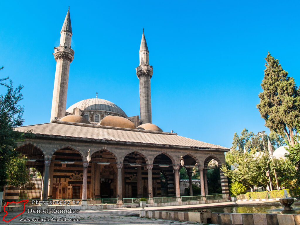
[{"label": "taller sunlit stone minaret, left of the large grey dome", "polygon": [[56,70],[50,121],[52,119],[61,119],[66,115],[69,69],[70,63],[74,59],[74,51],[71,49],[71,38],[72,27],[69,8],[61,28],[59,46],[54,48],[53,53],[56,61]]}]

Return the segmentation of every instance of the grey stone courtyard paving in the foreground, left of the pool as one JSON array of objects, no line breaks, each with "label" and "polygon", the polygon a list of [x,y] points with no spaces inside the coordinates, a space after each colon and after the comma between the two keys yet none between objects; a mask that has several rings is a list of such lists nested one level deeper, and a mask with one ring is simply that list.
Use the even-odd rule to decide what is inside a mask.
[{"label": "grey stone courtyard paving in the foreground, left of the pool", "polygon": [[[5,213],[0,213],[0,224],[35,224],[35,225],[51,225],[51,224],[61,224],[61,225],[69,225],[69,224],[115,224],[115,225],[139,225],[139,224],[153,224],[153,225],[159,225],[159,224],[172,224],[172,225],[190,225],[192,223],[189,222],[181,222],[181,221],[170,221],[170,220],[160,220],[160,219],[149,219],[149,218],[140,218],[137,216],[130,216],[133,214],[138,214],[138,210],[140,208],[131,208],[131,209],[96,209],[96,210],[80,210],[78,214],[29,214],[26,211],[21,214],[20,216],[16,217],[15,219],[11,220],[10,222],[6,223],[5,221],[2,221],[2,218],[4,217]],[[9,211],[7,216],[5,217],[5,220],[8,221],[11,218],[18,215],[19,211]],[[80,221],[76,222],[66,222],[66,221],[20,221],[20,219],[26,219],[29,218],[32,220],[32,218],[79,218]],[[195,224],[195,223],[193,223]],[[200,223],[197,223],[200,224]]]}]

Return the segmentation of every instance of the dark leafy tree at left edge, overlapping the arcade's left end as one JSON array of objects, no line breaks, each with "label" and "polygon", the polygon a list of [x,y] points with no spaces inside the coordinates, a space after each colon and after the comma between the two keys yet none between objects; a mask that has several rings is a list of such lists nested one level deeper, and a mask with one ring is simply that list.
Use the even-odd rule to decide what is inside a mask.
[{"label": "dark leafy tree at left edge, overlapping the arcade's left end", "polygon": [[[0,68],[0,70],[3,67]],[[5,81],[9,80],[9,85]],[[13,82],[7,77],[0,79],[0,85],[7,88],[5,95],[0,95],[0,191],[11,184],[20,186],[28,182],[26,158],[15,150],[16,143],[24,140],[24,133],[14,130],[24,122],[24,107],[18,105],[23,99],[22,85],[13,88]]]}]

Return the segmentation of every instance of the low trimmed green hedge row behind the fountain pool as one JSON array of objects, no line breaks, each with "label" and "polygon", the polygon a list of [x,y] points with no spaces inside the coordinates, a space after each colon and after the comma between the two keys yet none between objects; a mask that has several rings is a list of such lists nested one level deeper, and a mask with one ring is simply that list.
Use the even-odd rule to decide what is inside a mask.
[{"label": "low trimmed green hedge row behind the fountain pool", "polygon": [[300,196],[300,188],[295,189],[282,189],[282,190],[272,190],[272,191],[260,191],[260,192],[247,192],[245,194],[240,194],[236,198],[242,199],[268,199],[268,198],[284,198],[284,190],[286,190],[289,197]]}]

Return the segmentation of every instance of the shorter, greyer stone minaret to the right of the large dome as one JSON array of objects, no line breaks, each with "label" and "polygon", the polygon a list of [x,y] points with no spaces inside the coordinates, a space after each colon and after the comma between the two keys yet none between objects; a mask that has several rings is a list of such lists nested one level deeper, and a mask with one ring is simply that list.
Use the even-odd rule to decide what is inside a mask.
[{"label": "shorter, greyer stone minaret to the right of the large dome", "polygon": [[136,70],[137,77],[140,79],[140,120],[141,124],[152,123],[150,79],[153,74],[153,67],[149,66],[149,51],[144,29],[139,53],[140,66]]}]

